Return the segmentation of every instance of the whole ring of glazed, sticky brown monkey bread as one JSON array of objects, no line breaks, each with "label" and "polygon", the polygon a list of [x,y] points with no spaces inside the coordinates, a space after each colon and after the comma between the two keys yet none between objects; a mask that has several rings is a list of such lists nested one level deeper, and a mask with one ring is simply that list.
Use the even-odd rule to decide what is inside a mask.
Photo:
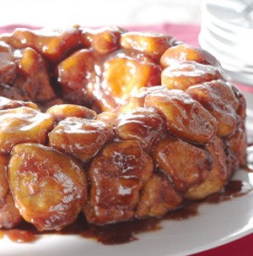
[{"label": "whole ring of glazed, sticky brown monkey bread", "polygon": [[0,227],[162,216],[245,165],[245,99],[170,35],[17,29],[0,36]]}]

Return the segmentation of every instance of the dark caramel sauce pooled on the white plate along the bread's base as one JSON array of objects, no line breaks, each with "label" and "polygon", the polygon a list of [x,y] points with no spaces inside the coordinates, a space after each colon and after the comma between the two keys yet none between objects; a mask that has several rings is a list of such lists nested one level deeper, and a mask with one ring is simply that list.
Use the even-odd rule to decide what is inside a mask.
[{"label": "dark caramel sauce pooled on the white plate along the bread's base", "polygon": [[[252,172],[252,171],[251,171]],[[45,234],[78,235],[92,238],[102,244],[112,245],[137,240],[136,235],[144,231],[158,231],[162,228],[162,221],[183,221],[198,215],[198,206],[203,203],[218,204],[250,193],[252,186],[239,180],[229,181],[218,193],[213,193],[201,202],[188,201],[183,207],[170,211],[162,218],[144,218],[140,220],[122,221],[114,224],[96,226],[89,224],[83,214],[78,215],[77,221],[66,226],[62,231],[37,231],[35,226],[22,222],[15,229],[0,231],[0,238],[8,237],[13,242],[35,242]]]}]

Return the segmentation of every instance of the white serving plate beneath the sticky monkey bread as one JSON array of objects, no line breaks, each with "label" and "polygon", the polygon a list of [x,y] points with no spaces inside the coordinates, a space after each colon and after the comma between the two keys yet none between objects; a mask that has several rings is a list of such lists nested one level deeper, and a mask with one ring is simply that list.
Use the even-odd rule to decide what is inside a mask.
[{"label": "white serving plate beneath the sticky monkey bread", "polygon": [[[248,104],[247,127],[253,136],[253,95]],[[237,172],[236,179],[253,185],[253,173]],[[138,235],[135,242],[102,245],[78,236],[47,235],[33,243],[13,243],[0,239],[0,255],[19,256],[176,256],[215,248],[253,232],[253,193],[220,204],[202,204],[199,215],[183,221],[162,221],[159,231]]]}]

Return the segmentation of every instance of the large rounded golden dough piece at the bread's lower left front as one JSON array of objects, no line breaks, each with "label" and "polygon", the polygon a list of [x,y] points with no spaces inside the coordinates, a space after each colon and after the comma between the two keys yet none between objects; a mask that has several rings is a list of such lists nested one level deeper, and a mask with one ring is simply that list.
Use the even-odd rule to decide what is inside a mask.
[{"label": "large rounded golden dough piece at the bread's lower left front", "polygon": [[40,144],[17,144],[8,167],[13,199],[39,231],[72,223],[87,199],[82,162]]}]

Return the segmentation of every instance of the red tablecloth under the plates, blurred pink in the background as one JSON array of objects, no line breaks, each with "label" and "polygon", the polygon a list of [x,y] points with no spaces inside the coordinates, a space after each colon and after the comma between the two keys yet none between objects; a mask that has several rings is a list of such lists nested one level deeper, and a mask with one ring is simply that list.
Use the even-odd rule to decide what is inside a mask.
[{"label": "red tablecloth under the plates, blurred pink in the background", "polygon": [[[0,33],[10,32],[18,25],[9,25],[6,27],[0,27]],[[20,27],[21,25],[19,25]],[[26,26],[28,27],[28,26]],[[163,24],[163,25],[138,25],[127,26],[129,30],[139,31],[157,31],[174,35],[179,41],[184,41],[192,46],[198,46],[198,34],[200,32],[200,26],[197,25],[175,25],[175,24]],[[253,92],[252,88],[243,84],[237,84],[240,90]],[[214,223],[215,226],[215,223]],[[202,253],[192,254],[191,256],[250,256],[253,255],[253,234],[240,238],[234,242],[229,242],[218,248],[213,248]]]}]

